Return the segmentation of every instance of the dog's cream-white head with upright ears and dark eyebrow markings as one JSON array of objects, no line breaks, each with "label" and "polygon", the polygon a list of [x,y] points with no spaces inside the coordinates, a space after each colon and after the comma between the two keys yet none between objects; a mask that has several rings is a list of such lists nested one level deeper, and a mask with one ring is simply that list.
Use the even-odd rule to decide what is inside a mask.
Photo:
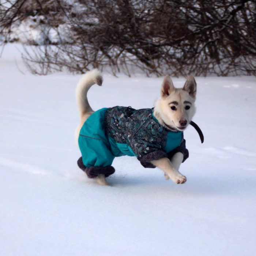
[{"label": "dog's cream-white head with upright ears and dark eyebrow markings", "polygon": [[196,112],[196,81],[189,76],[182,89],[174,87],[169,76],[165,76],[161,88],[161,97],[156,107],[165,124],[184,131]]}]

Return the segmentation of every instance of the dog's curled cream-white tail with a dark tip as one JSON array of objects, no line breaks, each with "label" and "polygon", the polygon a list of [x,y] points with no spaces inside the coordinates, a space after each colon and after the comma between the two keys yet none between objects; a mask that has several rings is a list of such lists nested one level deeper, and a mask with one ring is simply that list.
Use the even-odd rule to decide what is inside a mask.
[{"label": "dog's curled cream-white tail with a dark tip", "polygon": [[95,83],[101,86],[102,81],[102,75],[98,69],[93,69],[87,72],[79,80],[76,87],[76,103],[81,119],[85,114],[93,113],[93,110],[91,109],[91,106],[87,99],[88,90]]}]

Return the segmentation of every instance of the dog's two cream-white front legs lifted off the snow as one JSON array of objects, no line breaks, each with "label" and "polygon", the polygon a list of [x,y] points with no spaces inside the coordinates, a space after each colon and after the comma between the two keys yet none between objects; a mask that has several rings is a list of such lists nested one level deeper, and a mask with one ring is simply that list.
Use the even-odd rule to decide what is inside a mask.
[{"label": "dog's two cream-white front legs lifted off the snow", "polygon": [[165,176],[169,177],[173,182],[183,184],[187,181],[187,178],[178,171],[182,160],[183,154],[178,152],[173,156],[172,162],[165,157],[158,160],[153,160],[151,163],[163,170],[163,172],[165,172]]}]

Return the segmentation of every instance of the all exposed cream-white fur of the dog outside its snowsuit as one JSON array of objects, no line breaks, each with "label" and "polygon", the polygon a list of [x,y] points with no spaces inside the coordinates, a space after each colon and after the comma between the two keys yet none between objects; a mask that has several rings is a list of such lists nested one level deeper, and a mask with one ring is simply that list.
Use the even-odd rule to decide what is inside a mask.
[{"label": "all exposed cream-white fur of the dog outside its snowsuit", "polygon": [[[95,83],[98,85],[102,83],[102,75],[98,69],[93,69],[84,74],[76,87],[76,102],[80,114],[80,124],[76,129],[76,141],[78,141],[79,132],[84,122],[94,112],[88,102],[87,92]],[[176,89],[169,76],[166,76],[162,83],[161,97],[155,103],[154,116],[160,124],[184,131],[196,111],[195,96],[196,82],[193,76],[189,76],[183,89]],[[188,105],[190,109],[185,109]],[[176,110],[172,110],[172,106],[175,106]],[[180,122],[184,120],[187,121],[187,124],[181,127]],[[187,178],[178,171],[182,161],[183,154],[178,152],[173,156],[172,161],[168,158],[161,158],[151,161],[151,163],[163,170],[166,179],[170,178],[177,184],[183,184],[187,181]],[[95,180],[100,185],[108,185],[103,174],[100,174]]]}]

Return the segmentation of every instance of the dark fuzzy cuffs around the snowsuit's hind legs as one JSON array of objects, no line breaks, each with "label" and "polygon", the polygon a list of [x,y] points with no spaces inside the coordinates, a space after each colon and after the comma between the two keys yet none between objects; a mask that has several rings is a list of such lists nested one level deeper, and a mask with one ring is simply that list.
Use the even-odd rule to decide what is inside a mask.
[{"label": "dark fuzzy cuffs around the snowsuit's hind legs", "polygon": [[86,167],[83,164],[82,157],[78,159],[77,164],[78,167],[87,174],[88,178],[96,178],[99,174],[104,174],[105,177],[108,177],[115,172],[114,167],[110,165],[106,167]]}]

